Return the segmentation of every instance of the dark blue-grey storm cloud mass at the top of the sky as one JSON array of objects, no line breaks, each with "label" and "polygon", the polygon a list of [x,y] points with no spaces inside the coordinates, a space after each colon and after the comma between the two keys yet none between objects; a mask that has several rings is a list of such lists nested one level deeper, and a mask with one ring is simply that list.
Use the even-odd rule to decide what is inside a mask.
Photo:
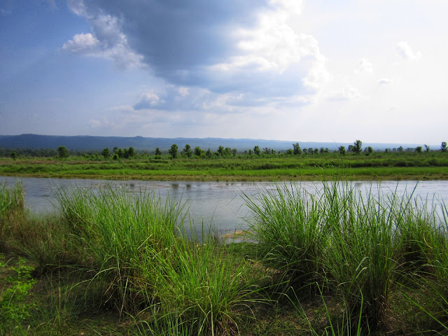
[{"label": "dark blue-grey storm cloud mass at the top of the sky", "polygon": [[130,47],[155,75],[181,85],[200,82],[196,68],[235,56],[232,29],[252,27],[255,13],[267,6],[260,0],[92,0],[84,5],[94,16],[97,38],[111,43],[116,38],[104,25],[94,25],[99,15],[118,18]]}]

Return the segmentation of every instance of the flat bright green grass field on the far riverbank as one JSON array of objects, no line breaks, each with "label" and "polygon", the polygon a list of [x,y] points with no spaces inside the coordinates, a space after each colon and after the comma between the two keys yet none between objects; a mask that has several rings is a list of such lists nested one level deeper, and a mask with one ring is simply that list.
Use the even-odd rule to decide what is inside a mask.
[{"label": "flat bright green grass field on the far riverbank", "polygon": [[0,175],[80,179],[293,181],[341,176],[352,180],[446,180],[448,153],[370,155],[237,155],[230,158],[0,158]]}]

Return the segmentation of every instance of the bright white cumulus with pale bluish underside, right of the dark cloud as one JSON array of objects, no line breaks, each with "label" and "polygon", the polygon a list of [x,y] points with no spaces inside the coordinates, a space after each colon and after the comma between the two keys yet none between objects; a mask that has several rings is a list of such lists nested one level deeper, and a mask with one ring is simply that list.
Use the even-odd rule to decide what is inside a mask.
[{"label": "bright white cumulus with pale bluish underside, right of the dark cloud", "polygon": [[280,93],[272,90],[274,88],[294,92],[318,90],[328,80],[325,57],[313,36],[297,34],[288,25],[291,17],[301,13],[302,2],[276,0],[270,3],[272,8],[258,15],[255,27],[235,31],[238,55],[209,66],[209,71],[218,78],[225,78],[225,85],[240,83],[246,87],[246,76],[250,73],[254,79],[252,92],[272,92],[274,96]]}]

